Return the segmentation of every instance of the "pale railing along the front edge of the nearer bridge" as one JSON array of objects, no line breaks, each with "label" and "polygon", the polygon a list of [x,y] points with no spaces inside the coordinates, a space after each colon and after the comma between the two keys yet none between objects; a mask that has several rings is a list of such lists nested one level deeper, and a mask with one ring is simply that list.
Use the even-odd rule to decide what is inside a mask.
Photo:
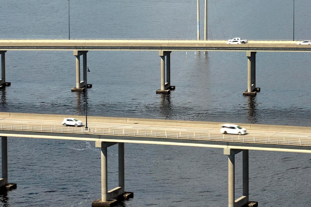
[{"label": "pale railing along the front edge of the nearer bridge", "polygon": [[29,126],[29,125],[5,125],[1,124],[2,131],[17,132],[42,132],[42,133],[63,133],[63,134],[85,134],[114,137],[139,137],[139,138],[169,138],[169,139],[189,139],[222,142],[239,142],[255,144],[274,144],[286,146],[311,146],[311,139],[300,138],[264,138],[247,137],[234,135],[211,135],[198,133],[182,133],[168,131],[140,131],[140,130],[112,130],[83,127],[48,127],[48,126]]}]

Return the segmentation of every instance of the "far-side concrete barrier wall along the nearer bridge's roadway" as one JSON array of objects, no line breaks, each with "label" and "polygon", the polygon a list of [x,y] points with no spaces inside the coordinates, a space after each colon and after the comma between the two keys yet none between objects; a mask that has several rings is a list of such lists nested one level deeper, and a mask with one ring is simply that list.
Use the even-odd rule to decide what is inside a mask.
[{"label": "far-side concrete barrier wall along the nearer bridge's roadway", "polygon": [[[49,119],[59,120],[60,122],[66,117],[74,117],[82,122],[85,121],[85,116],[76,115],[52,115],[52,114],[27,114],[27,113],[9,113],[0,112],[0,118],[16,118],[16,119]],[[182,121],[182,120],[161,120],[161,119],[140,119],[140,118],[118,118],[118,117],[96,117],[87,116],[87,122],[112,122],[112,123],[127,123],[127,124],[148,124],[148,125],[171,125],[171,126],[185,126],[185,127],[211,127],[220,128],[220,122],[203,122],[203,121]],[[310,132],[311,127],[298,126],[281,126],[281,125],[259,125],[259,124],[242,124],[234,123],[246,130],[271,130],[271,131],[288,131],[288,132]]]}]

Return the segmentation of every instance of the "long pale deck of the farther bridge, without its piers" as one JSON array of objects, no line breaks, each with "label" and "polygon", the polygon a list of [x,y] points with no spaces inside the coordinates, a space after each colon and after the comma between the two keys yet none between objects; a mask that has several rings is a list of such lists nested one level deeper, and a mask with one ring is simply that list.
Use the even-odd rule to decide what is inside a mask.
[{"label": "long pale deck of the farther bridge, without its piers", "polygon": [[249,40],[226,44],[227,40],[48,40],[2,39],[0,51],[11,50],[145,50],[145,51],[266,51],[311,52],[311,45],[291,40]]}]

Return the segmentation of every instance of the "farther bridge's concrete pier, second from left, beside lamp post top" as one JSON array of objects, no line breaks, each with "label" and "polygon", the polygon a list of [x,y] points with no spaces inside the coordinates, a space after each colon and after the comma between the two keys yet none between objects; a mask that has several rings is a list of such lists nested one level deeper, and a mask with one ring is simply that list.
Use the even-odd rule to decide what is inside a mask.
[{"label": "farther bridge's concrete pier, second from left, beside lamp post top", "polygon": [[[72,88],[71,91],[84,91],[85,88],[91,88],[92,84],[85,85],[85,78],[87,72],[87,58],[86,53],[88,51],[74,51],[74,56],[76,56],[76,87]],[[83,57],[83,80],[80,81],[80,56]]]}]

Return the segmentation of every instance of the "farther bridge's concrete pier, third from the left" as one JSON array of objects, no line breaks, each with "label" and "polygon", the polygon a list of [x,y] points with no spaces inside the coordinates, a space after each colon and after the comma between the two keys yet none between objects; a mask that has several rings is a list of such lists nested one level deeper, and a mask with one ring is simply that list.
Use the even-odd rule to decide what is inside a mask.
[{"label": "farther bridge's concrete pier, third from the left", "polygon": [[[159,51],[161,57],[161,89],[156,90],[156,93],[170,93],[175,86],[170,85],[170,53],[171,51]],[[166,57],[166,73],[165,73],[165,57]],[[166,78],[165,78],[166,75]]]}]

